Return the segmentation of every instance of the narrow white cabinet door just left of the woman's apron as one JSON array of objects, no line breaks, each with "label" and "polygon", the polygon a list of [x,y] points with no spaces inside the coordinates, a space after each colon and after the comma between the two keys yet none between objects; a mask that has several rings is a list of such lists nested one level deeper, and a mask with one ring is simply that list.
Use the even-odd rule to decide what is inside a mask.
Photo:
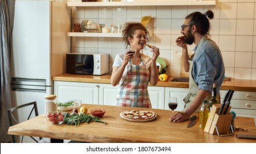
[{"label": "narrow white cabinet door just left of the woman's apron", "polygon": [[116,106],[116,97],[118,94],[118,85],[100,84],[99,104]]}]

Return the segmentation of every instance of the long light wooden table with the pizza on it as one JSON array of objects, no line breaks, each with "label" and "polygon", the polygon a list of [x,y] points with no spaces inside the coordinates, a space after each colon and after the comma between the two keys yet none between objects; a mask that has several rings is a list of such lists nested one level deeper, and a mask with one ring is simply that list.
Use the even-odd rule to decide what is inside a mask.
[{"label": "long light wooden table with the pizza on it", "polygon": [[[88,108],[87,114],[92,108],[103,108],[105,115],[101,118],[107,122],[90,122],[75,125],[51,124],[49,120],[40,114],[25,122],[9,127],[8,134],[24,136],[40,136],[43,138],[72,140],[81,142],[172,142],[172,143],[203,143],[203,142],[256,142],[253,139],[239,139],[237,134],[256,135],[254,119],[250,117],[237,117],[234,119],[234,125],[239,128],[249,129],[249,131],[236,130],[233,135],[218,136],[206,133],[199,128],[199,116],[193,127],[187,128],[189,120],[185,122],[170,122],[170,110],[137,108],[137,107],[119,107],[106,105],[83,104]],[[155,112],[156,119],[150,122],[130,122],[121,118],[120,113],[138,109],[140,111]],[[176,112],[176,111],[175,111]],[[175,113],[174,112],[174,113]]]}]

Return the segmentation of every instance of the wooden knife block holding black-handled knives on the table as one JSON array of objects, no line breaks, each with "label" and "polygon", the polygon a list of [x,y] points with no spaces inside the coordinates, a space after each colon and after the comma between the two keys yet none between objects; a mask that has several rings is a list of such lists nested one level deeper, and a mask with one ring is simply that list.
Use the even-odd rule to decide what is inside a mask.
[{"label": "wooden knife block holding black-handled knives on the table", "polygon": [[[226,106],[225,106],[226,107]],[[225,108],[224,107],[224,108]],[[219,134],[227,133],[232,122],[233,114],[229,113],[231,106],[228,107],[227,114],[218,115],[221,109],[221,104],[212,105],[210,115],[205,125],[205,132],[210,134],[217,134],[216,127]],[[216,125],[216,126],[215,126]]]}]

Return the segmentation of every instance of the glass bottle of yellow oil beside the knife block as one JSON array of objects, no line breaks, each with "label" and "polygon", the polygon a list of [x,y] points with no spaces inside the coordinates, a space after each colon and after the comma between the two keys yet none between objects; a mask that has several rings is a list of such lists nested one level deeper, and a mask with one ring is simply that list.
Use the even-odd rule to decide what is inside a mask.
[{"label": "glass bottle of yellow oil beside the knife block", "polygon": [[210,114],[210,107],[207,100],[203,100],[203,105],[201,106],[201,109],[199,111],[199,128],[205,129],[205,125],[207,122],[207,119]]}]

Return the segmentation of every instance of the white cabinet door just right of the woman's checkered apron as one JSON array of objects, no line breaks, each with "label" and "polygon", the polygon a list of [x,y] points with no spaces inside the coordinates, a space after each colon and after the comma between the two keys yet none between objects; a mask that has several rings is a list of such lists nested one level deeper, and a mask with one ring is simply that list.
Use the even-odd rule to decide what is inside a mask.
[{"label": "white cabinet door just right of the woman's checkered apron", "polygon": [[149,86],[148,92],[152,108],[164,109],[165,87]]}]

